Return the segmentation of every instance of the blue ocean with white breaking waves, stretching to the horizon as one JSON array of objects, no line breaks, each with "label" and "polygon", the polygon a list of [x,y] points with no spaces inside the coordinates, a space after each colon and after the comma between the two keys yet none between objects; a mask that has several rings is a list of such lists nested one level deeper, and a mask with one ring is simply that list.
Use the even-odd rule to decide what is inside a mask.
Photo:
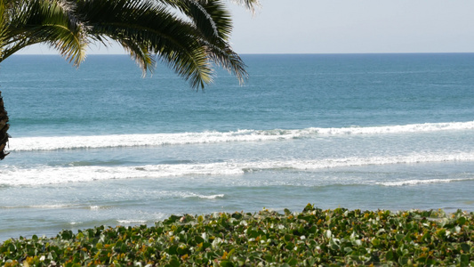
[{"label": "blue ocean with white breaking waves, stretching to the horizon", "polygon": [[474,211],[474,53],[246,54],[204,91],[126,55],[0,65],[0,241],[170,214]]}]

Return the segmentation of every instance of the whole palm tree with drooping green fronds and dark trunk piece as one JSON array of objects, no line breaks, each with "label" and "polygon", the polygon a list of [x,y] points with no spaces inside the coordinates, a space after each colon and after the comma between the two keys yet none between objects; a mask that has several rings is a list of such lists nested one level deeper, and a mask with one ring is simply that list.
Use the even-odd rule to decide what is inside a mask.
[{"label": "whole palm tree with drooping green fronds and dark trunk piece", "polygon": [[[251,11],[258,0],[231,0]],[[193,88],[213,81],[213,66],[239,82],[245,64],[229,36],[232,20],[222,0],[0,0],[0,62],[31,44],[49,44],[78,66],[89,44],[121,44],[143,70],[162,61]],[[0,159],[8,141],[0,94]]]}]

